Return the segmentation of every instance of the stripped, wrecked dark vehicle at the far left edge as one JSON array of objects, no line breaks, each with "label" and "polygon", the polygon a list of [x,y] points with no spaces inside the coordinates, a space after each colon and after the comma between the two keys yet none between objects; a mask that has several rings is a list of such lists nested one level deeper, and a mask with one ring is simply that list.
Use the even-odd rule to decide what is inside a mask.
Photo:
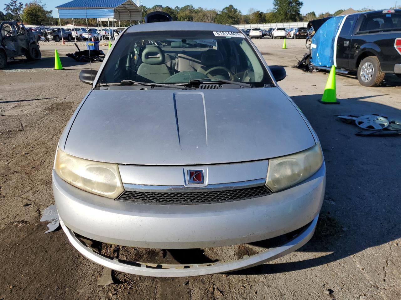
[{"label": "stripped, wrecked dark vehicle at the far left edge", "polygon": [[28,60],[41,59],[39,36],[26,30],[17,22],[0,23],[0,69],[7,65],[8,58],[24,55]]}]

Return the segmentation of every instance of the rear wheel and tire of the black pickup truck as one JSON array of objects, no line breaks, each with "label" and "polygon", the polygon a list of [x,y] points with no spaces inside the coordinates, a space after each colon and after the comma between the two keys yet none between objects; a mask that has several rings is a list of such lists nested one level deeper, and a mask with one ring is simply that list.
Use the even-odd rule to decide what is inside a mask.
[{"label": "rear wheel and tire of the black pickup truck", "polygon": [[358,66],[358,81],[363,86],[379,86],[385,73],[381,71],[379,59],[376,56],[365,57]]}]

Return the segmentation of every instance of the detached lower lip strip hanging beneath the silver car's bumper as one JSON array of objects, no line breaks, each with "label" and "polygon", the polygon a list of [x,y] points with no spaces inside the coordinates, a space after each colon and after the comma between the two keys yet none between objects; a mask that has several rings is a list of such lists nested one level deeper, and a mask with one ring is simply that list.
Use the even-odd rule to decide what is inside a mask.
[{"label": "detached lower lip strip hanging beneath the silver car's bumper", "polygon": [[153,277],[201,276],[231,272],[235,270],[249,268],[252,266],[258,266],[259,264],[264,264],[266,262],[289,254],[304,246],[304,244],[306,244],[310,240],[310,238],[312,238],[317,222],[318,216],[313,219],[313,221],[309,224],[307,228],[305,228],[300,234],[298,234],[294,239],[290,240],[286,244],[274,248],[269,248],[267,251],[255,254],[253,256],[244,256],[242,259],[229,262],[212,262],[208,264],[185,265],[126,262],[117,258],[100,255],[97,252],[93,251],[91,248],[83,245],[82,242],[75,236],[74,232],[67,226],[65,226],[63,220],[60,218],[61,228],[63,228],[71,244],[89,260],[100,264],[101,266],[105,266],[106,268],[117,270],[119,272]]}]

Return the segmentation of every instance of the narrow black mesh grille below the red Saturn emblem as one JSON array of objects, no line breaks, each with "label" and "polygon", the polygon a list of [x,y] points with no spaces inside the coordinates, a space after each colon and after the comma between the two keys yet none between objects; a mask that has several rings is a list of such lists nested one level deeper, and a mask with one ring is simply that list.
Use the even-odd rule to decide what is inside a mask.
[{"label": "narrow black mesh grille below the red Saturn emblem", "polygon": [[153,204],[221,203],[269,195],[265,186],[211,192],[136,192],[126,191],[117,200]]}]

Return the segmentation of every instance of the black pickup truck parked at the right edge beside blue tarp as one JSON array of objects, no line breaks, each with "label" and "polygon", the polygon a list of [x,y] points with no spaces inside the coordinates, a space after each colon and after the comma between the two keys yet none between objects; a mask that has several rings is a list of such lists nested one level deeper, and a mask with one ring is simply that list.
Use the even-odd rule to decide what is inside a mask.
[{"label": "black pickup truck parked at the right edge beside blue tarp", "polygon": [[386,73],[401,78],[401,10],[350,14],[340,28],[333,45],[337,72],[356,72],[363,86],[378,86]]}]

